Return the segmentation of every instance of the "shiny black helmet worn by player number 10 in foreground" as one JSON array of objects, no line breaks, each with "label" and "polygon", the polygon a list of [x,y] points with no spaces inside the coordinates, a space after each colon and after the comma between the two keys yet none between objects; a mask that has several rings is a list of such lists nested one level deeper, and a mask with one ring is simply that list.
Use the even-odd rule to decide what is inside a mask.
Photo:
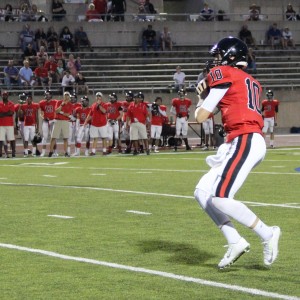
[{"label": "shiny black helmet worn by player number 10 in foreground", "polygon": [[247,66],[248,47],[238,38],[230,36],[220,40],[209,53],[216,58],[216,65]]}]

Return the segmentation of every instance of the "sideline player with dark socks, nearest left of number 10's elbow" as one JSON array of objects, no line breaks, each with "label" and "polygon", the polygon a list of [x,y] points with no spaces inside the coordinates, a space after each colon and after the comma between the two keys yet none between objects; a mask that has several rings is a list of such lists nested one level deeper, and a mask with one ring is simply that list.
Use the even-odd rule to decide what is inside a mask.
[{"label": "sideline player with dark socks, nearest left of number 10's elbow", "polygon": [[178,91],[178,98],[172,99],[171,113],[176,116],[176,136],[174,150],[177,151],[177,139],[182,134],[186,150],[192,150],[189,146],[187,133],[188,133],[188,119],[190,114],[190,107],[192,101],[186,98],[186,92],[184,89]]}]

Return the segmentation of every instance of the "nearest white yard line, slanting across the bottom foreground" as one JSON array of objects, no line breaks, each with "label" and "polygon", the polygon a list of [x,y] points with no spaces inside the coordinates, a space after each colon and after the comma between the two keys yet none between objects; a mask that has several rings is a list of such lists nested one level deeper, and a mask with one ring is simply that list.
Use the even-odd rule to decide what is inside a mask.
[{"label": "nearest white yard line, slanting across the bottom foreground", "polygon": [[200,284],[200,285],[206,285],[206,286],[212,286],[212,287],[232,290],[232,291],[246,293],[246,294],[250,294],[250,295],[258,295],[258,296],[274,298],[274,299],[300,300],[300,298],[290,296],[290,295],[282,295],[282,294],[272,293],[272,292],[254,289],[254,288],[247,288],[247,287],[238,286],[238,285],[231,285],[231,284],[225,284],[225,283],[216,282],[216,281],[204,280],[201,278],[188,277],[188,276],[184,276],[184,275],[177,275],[177,274],[173,274],[173,273],[167,273],[167,272],[156,271],[156,270],[151,270],[151,269],[132,267],[132,266],[121,265],[121,264],[117,264],[117,263],[110,263],[110,262],[96,260],[96,259],[89,259],[89,258],[77,257],[77,256],[69,256],[69,255],[64,255],[64,254],[60,254],[60,253],[56,253],[56,252],[52,252],[52,251],[41,250],[41,249],[27,248],[27,247],[11,245],[11,244],[2,244],[2,243],[0,243],[0,247],[6,248],[6,249],[13,249],[13,250],[37,253],[37,254],[55,257],[55,258],[59,258],[59,259],[63,259],[63,260],[71,260],[71,261],[82,262],[82,263],[93,264],[93,265],[100,265],[100,266],[104,266],[104,267],[121,269],[121,270],[126,270],[126,271],[131,271],[131,272],[155,275],[155,276],[175,279],[175,280],[179,280],[179,281],[191,282],[191,283],[196,283],[196,284]]}]

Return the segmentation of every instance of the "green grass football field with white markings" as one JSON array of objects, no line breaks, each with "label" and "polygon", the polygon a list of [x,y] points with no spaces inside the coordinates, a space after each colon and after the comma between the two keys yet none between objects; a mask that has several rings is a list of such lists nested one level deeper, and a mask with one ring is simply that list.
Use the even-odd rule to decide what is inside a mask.
[{"label": "green grass football field with white markings", "polygon": [[251,251],[217,269],[225,239],[193,198],[206,155],[1,160],[1,299],[300,299],[300,148],[236,195],[282,229],[271,268],[237,224]]}]

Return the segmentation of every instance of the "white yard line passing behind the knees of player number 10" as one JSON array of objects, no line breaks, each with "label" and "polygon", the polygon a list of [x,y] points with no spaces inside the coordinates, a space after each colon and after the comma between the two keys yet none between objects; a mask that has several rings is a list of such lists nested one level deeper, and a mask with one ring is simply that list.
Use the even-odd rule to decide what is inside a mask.
[{"label": "white yard line passing behind the knees of player number 10", "polygon": [[[12,182],[0,182],[0,185],[10,185],[10,186],[29,186],[29,187],[44,187],[44,188],[61,188],[61,189],[79,189],[79,190],[93,190],[93,191],[105,191],[113,193],[126,193],[126,194],[138,194],[138,195],[147,195],[147,196],[156,196],[156,197],[170,197],[170,198],[184,198],[184,199],[195,199],[193,196],[184,196],[184,195],[175,195],[175,194],[161,194],[161,193],[150,193],[150,192],[141,192],[141,191],[131,191],[131,190],[119,190],[112,188],[100,188],[100,187],[88,187],[88,186],[74,186],[74,185],[52,185],[52,184],[36,184],[36,183],[12,183]],[[282,208],[296,208],[300,209],[300,203],[298,206],[283,204],[274,204],[274,203],[263,203],[263,202],[250,202],[250,201],[241,201],[250,205],[260,205],[260,206],[273,206],[273,207],[282,207]]]}]

